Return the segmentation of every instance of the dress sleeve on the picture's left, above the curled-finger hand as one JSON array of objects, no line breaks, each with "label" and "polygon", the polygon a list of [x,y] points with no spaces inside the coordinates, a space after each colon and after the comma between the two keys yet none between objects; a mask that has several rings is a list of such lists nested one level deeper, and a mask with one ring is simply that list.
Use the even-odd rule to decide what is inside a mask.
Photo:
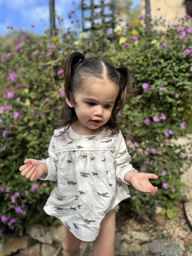
[{"label": "dress sleeve on the picture's left, above the curled-finger hand", "polygon": [[41,159],[40,162],[43,162],[48,167],[48,173],[39,177],[40,180],[52,180],[57,181],[57,167],[58,167],[58,149],[56,137],[52,135],[51,141],[49,143],[49,157],[47,159]]}]

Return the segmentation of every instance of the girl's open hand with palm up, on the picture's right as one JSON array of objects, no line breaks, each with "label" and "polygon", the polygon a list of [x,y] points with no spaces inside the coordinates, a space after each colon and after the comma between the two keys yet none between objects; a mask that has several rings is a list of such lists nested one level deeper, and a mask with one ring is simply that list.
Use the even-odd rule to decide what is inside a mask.
[{"label": "girl's open hand with palm up, on the picture's right", "polygon": [[135,189],[143,192],[145,195],[153,196],[157,191],[157,186],[154,187],[148,179],[158,179],[158,176],[152,173],[134,173],[129,177],[129,182]]}]

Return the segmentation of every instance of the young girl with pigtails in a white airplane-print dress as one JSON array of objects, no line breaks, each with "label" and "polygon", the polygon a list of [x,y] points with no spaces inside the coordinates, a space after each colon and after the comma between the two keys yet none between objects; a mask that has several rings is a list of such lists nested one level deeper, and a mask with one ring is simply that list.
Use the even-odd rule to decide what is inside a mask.
[{"label": "young girl with pigtails in a white airplane-print dress", "polygon": [[152,196],[158,189],[148,179],[158,176],[132,167],[116,123],[131,88],[127,68],[74,52],[64,70],[62,122],[49,157],[25,159],[19,170],[31,181],[56,182],[44,211],[64,224],[66,256],[79,256],[81,241],[93,241],[93,256],[113,256],[115,214],[119,202],[130,197],[127,185]]}]

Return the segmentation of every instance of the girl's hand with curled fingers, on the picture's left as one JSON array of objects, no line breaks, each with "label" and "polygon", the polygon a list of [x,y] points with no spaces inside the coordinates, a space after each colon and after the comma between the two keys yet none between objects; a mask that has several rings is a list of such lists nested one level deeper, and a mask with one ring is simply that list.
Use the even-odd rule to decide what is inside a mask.
[{"label": "girl's hand with curled fingers, on the picture's left", "polygon": [[31,181],[37,180],[42,175],[47,175],[48,173],[47,165],[36,159],[25,159],[24,165],[20,166],[19,170],[22,176]]}]

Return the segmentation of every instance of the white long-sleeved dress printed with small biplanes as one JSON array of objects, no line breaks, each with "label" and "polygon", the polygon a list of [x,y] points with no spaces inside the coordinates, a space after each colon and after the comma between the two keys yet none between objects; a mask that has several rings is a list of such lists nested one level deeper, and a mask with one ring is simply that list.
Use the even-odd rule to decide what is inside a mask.
[{"label": "white long-sleeved dress printed with small biplanes", "polygon": [[48,174],[39,179],[56,181],[44,211],[59,218],[80,240],[94,241],[105,214],[130,197],[124,175],[136,170],[129,163],[125,140],[121,131],[107,137],[105,129],[87,136],[76,134],[72,127],[67,132],[61,128],[54,135],[49,157],[41,160]]}]

